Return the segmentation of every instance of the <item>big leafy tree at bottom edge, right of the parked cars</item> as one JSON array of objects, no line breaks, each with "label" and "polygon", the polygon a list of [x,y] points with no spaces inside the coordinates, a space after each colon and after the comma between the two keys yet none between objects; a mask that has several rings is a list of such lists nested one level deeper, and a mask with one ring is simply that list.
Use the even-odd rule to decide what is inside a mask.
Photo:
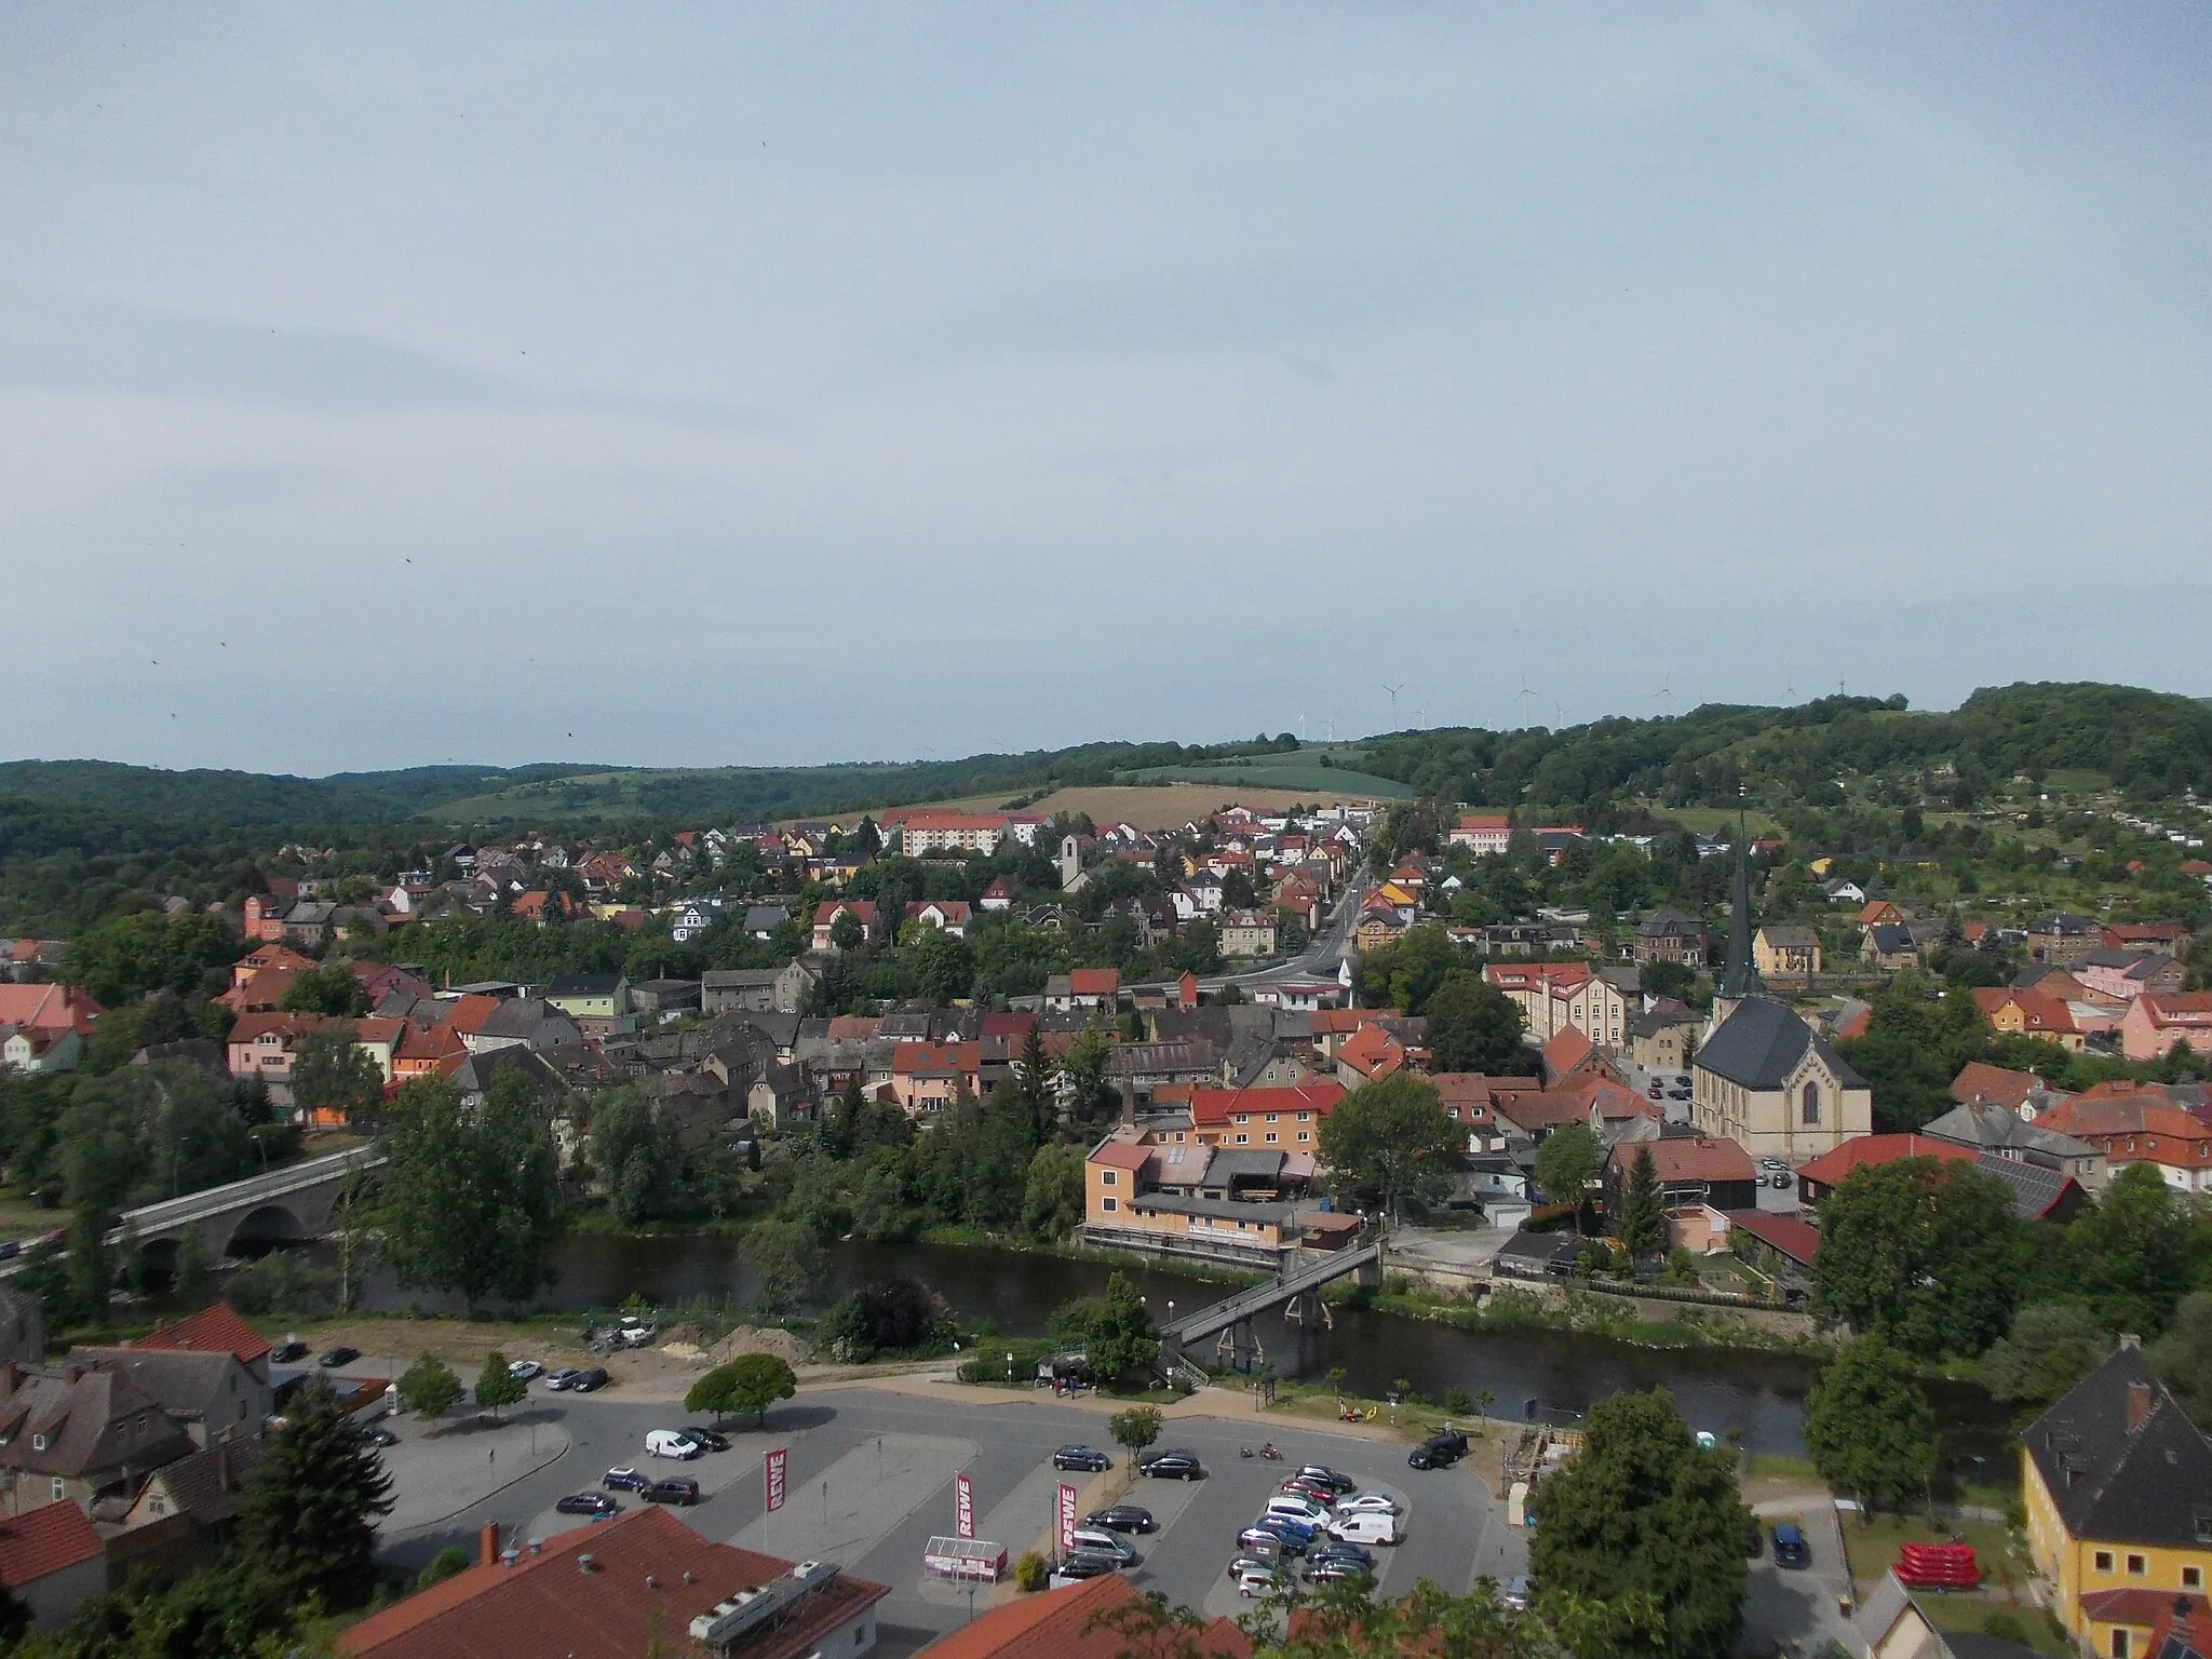
[{"label": "big leafy tree at bottom edge, right of the parked cars", "polygon": [[1528,1566],[1546,1590],[1650,1597],[1657,1621],[1613,1652],[1705,1659],[1732,1652],[1743,1628],[1750,1526],[1732,1453],[1701,1451],[1666,1389],[1615,1394],[1544,1482]]}]

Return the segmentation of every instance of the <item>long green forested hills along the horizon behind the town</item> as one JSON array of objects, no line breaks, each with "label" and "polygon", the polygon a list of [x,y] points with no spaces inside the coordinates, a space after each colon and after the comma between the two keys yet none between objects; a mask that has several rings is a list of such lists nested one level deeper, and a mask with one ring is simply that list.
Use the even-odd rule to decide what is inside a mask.
[{"label": "long green forested hills along the horizon behind the town", "polygon": [[1062,785],[1221,776],[1274,759],[1336,768],[1471,805],[1562,805],[1637,796],[1655,805],[1730,805],[1739,781],[1756,805],[1823,805],[1840,779],[1905,776],[1980,794],[2015,774],[2068,774],[2146,801],[2194,785],[2212,792],[2212,708],[2128,686],[2004,686],[1947,714],[1905,701],[1823,697],[1796,708],[1708,703],[1688,714],[1604,719],[1566,730],[1475,728],[1396,732],[1327,752],[1296,739],[1245,743],[1088,743],[960,761],[814,768],[637,770],[606,765],[341,772],[327,779],[252,772],[161,772],[106,761],[0,763],[0,854],[168,832],[307,832],[316,825],[438,821],[538,827],[637,818],[737,823],[962,796],[1024,799]]}]

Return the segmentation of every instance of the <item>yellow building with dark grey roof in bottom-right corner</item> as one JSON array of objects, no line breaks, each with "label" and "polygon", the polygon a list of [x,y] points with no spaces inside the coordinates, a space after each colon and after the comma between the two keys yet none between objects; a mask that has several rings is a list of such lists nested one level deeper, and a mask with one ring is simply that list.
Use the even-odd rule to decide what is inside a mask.
[{"label": "yellow building with dark grey roof in bottom-right corner", "polygon": [[2028,1555],[2088,1652],[2143,1659],[2181,1604],[2205,1617],[2212,1440],[2137,1338],[2033,1422],[2020,1464]]}]

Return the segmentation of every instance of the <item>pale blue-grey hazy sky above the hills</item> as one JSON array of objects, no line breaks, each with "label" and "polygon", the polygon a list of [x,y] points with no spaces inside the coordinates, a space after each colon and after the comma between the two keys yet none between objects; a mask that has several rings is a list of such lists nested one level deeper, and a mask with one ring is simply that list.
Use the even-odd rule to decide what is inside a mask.
[{"label": "pale blue-grey hazy sky above the hills", "polygon": [[0,757],[2212,692],[2201,4],[24,0],[0,250]]}]

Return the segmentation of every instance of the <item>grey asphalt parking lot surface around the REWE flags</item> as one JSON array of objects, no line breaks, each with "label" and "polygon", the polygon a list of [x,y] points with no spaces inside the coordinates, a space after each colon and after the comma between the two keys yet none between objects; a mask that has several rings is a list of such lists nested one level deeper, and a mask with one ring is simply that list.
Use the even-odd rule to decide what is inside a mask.
[{"label": "grey asphalt parking lot surface around the REWE flags", "polygon": [[[668,1405],[624,1402],[617,1394],[560,1396],[533,1389],[529,1407],[509,1413],[502,1444],[515,1447],[507,1462],[529,1467],[518,1438],[538,1431],[540,1460],[529,1473],[498,1473],[495,1460],[478,1469],[478,1442],[467,1449],[451,1436],[425,1440],[407,1418],[394,1420],[403,1444],[387,1453],[396,1489],[407,1502],[409,1486],[449,1482],[445,1473],[467,1460],[478,1489],[511,1480],[476,1502],[456,1489],[462,1506],[440,1520],[392,1526],[385,1555],[409,1571],[447,1544],[476,1548],[482,1522],[502,1522],[502,1540],[526,1548],[529,1537],[577,1526],[553,1513],[553,1502],[571,1491],[597,1486],[611,1464],[637,1464],[672,1473],[675,1464],[648,1462],[648,1429],[681,1427],[686,1416]],[[768,1431],[728,1429],[732,1449],[684,1464],[681,1473],[701,1482],[703,1502],[675,1511],[703,1535],[759,1548],[785,1559],[827,1557],[860,1577],[891,1586],[883,1601],[883,1652],[911,1655],[969,1617],[969,1595],[920,1573],[922,1546],[931,1535],[953,1531],[951,1478],[964,1471],[975,1482],[975,1515],[982,1537],[1011,1555],[1037,1548],[1046,1537],[1053,1491],[1075,1482],[1086,1509],[1104,1495],[1108,1478],[1055,1475],[1051,1453],[1066,1442],[1106,1444],[1099,1416],[1051,1400],[947,1402],[940,1398],[883,1389],[810,1389],[770,1411]],[[1137,1537],[1144,1562],[1130,1579],[1159,1590],[1170,1604],[1234,1613],[1239,1604],[1223,1568],[1234,1553],[1239,1528],[1250,1524],[1285,1464],[1239,1458],[1239,1444],[1274,1436],[1290,1458],[1327,1462],[1363,1486],[1409,1502],[1407,1537],[1396,1548],[1378,1548],[1383,1590],[1405,1593],[1420,1577],[1464,1593],[1475,1573],[1522,1571],[1524,1548],[1504,1535],[1502,1509],[1471,1469],[1418,1473],[1407,1469],[1405,1449],[1387,1440],[1356,1440],[1325,1429],[1281,1420],[1243,1425],[1234,1418],[1181,1418],[1168,1425],[1168,1444],[1190,1447],[1206,1464],[1199,1482],[1137,1480],[1128,1502],[1148,1506],[1161,1531]],[[555,1442],[566,1451],[544,1460]],[[790,1449],[790,1502],[763,1515],[761,1458],[770,1447]],[[456,1455],[458,1453],[458,1455]],[[630,1498],[622,1498],[628,1506]],[[440,1504],[429,1504],[436,1509]],[[409,1504],[425,1515],[425,1504]],[[403,1522],[394,1515],[394,1522]],[[989,1590],[978,1606],[989,1604]]]}]

